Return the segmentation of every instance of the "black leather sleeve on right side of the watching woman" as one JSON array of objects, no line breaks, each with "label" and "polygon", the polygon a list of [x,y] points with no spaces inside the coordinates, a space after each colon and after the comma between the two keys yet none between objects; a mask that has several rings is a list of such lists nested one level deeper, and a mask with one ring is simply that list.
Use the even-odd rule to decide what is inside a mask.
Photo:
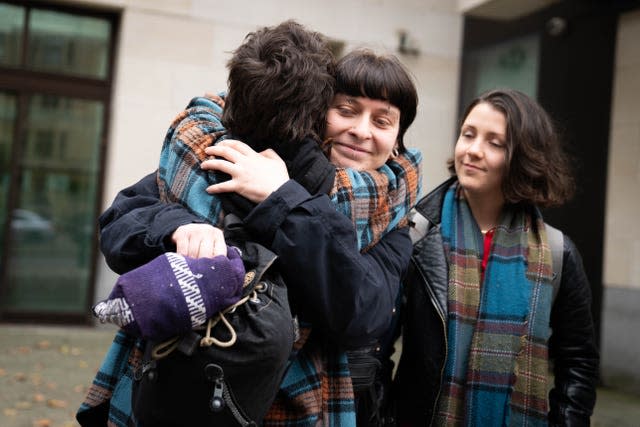
[{"label": "black leather sleeve on right side of the watching woman", "polygon": [[549,394],[549,423],[581,426],[589,425],[595,405],[599,354],[582,259],[566,235],[564,241],[562,282],[551,311],[555,384]]}]

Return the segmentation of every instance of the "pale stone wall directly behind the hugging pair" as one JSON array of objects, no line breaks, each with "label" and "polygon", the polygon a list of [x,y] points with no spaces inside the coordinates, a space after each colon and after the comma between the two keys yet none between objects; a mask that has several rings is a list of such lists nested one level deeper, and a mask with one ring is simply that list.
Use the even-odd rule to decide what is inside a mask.
[{"label": "pale stone wall directly behind the hugging pair", "polygon": [[[74,4],[77,4],[74,2]],[[103,206],[155,169],[167,126],[189,99],[226,87],[229,52],[259,26],[285,19],[345,43],[396,52],[405,31],[417,55],[398,55],[418,87],[418,116],[406,136],[425,154],[423,187],[446,176],[455,141],[462,16],[449,0],[85,0],[120,10]],[[96,299],[115,275],[99,262]]]}]

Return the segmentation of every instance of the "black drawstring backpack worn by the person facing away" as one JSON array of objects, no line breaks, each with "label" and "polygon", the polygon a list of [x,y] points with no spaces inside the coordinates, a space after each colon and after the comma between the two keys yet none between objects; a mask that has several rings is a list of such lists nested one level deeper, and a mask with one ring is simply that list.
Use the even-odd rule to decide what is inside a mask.
[{"label": "black drawstring backpack worn by the person facing away", "polygon": [[294,341],[286,287],[239,218],[225,217],[224,234],[242,252],[243,298],[204,331],[146,344],[131,402],[144,426],[255,426],[275,399]]}]

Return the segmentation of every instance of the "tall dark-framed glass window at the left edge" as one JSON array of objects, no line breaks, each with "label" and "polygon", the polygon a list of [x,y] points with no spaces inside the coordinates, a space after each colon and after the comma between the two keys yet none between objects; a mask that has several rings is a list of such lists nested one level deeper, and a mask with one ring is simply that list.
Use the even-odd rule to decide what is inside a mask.
[{"label": "tall dark-framed glass window at the left edge", "polygon": [[86,319],[117,16],[0,1],[0,315]]}]

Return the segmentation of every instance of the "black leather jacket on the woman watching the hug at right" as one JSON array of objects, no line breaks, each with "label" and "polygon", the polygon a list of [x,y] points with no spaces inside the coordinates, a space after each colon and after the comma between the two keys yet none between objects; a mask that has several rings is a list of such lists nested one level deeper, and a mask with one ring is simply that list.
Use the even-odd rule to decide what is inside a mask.
[{"label": "black leather jacket on the woman watching the hug at right", "polygon": [[[405,281],[402,356],[394,384],[399,425],[431,424],[440,394],[447,358],[448,279],[440,214],[453,179],[416,206],[431,225],[426,235],[414,243]],[[599,364],[590,304],[582,259],[565,235],[562,280],[551,311],[549,357],[555,383],[549,394],[550,425],[589,425]]]}]

